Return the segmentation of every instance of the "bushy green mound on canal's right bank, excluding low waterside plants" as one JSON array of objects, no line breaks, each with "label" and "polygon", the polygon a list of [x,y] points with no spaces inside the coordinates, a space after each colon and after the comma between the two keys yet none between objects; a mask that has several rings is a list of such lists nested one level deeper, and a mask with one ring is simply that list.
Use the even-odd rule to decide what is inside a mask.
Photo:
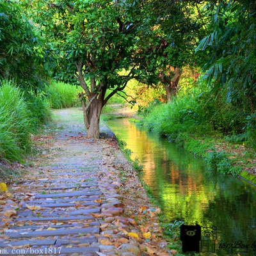
[{"label": "bushy green mound on canal's right bank, excluding low waterside plants", "polygon": [[149,105],[143,110],[148,115],[145,125],[171,140],[177,134],[240,134],[244,130],[244,114],[241,109],[226,102],[225,92],[212,97],[211,89],[200,82],[199,88],[180,92],[172,102],[156,106]]}]

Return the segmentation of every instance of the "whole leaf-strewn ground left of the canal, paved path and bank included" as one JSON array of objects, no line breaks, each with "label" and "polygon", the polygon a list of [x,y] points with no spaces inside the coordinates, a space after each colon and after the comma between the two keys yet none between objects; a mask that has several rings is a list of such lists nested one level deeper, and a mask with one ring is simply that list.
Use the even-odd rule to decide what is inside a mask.
[{"label": "whole leaf-strewn ground left of the canal, paved path and bank included", "polygon": [[54,127],[34,138],[42,154],[0,194],[1,252],[175,254],[164,249],[160,209],[150,205],[116,141],[86,139],[82,116],[76,108],[54,111]]}]

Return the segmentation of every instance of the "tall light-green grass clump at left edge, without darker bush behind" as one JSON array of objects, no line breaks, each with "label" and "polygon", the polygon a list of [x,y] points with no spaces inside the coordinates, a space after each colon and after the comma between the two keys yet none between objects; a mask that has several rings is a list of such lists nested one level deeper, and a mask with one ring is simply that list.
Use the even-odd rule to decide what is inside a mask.
[{"label": "tall light-green grass clump at left edge, without darker bush behind", "polygon": [[0,159],[20,160],[31,149],[35,119],[22,92],[10,81],[0,83]]}]

